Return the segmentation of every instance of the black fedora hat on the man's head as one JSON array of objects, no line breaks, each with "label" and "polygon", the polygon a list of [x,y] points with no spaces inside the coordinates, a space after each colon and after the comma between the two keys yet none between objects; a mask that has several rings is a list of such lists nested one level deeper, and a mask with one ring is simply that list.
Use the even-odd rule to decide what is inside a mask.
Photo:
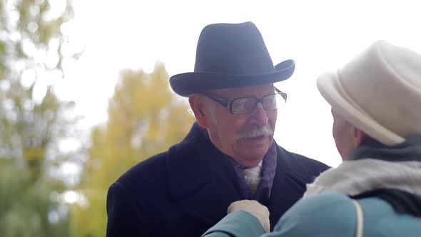
[{"label": "black fedora hat on the man's head", "polygon": [[273,66],[252,22],[210,24],[199,36],[194,72],[171,76],[170,84],[176,94],[189,96],[210,89],[273,84],[290,78],[294,69],[291,59]]}]

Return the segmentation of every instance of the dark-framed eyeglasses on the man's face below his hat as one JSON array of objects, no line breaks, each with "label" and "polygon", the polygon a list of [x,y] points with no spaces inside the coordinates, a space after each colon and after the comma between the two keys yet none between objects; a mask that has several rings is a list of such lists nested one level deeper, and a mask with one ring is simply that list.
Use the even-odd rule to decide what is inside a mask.
[{"label": "dark-framed eyeglasses on the man's face below his hat", "polygon": [[279,109],[282,107],[287,101],[287,94],[276,88],[275,91],[278,93],[263,96],[262,98],[240,97],[228,102],[208,94],[203,95],[220,104],[221,106],[228,108],[231,114],[250,114],[259,103],[261,103],[263,105],[263,109],[267,111]]}]

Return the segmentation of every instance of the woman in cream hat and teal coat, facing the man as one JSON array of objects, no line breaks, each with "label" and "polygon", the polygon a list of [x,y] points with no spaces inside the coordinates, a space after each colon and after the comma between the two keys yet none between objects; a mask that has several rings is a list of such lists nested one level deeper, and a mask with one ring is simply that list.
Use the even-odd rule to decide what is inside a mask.
[{"label": "woman in cream hat and teal coat, facing the man", "polygon": [[322,173],[270,230],[237,201],[203,236],[421,236],[421,56],[376,41],[318,89],[332,106],[344,162]]}]

